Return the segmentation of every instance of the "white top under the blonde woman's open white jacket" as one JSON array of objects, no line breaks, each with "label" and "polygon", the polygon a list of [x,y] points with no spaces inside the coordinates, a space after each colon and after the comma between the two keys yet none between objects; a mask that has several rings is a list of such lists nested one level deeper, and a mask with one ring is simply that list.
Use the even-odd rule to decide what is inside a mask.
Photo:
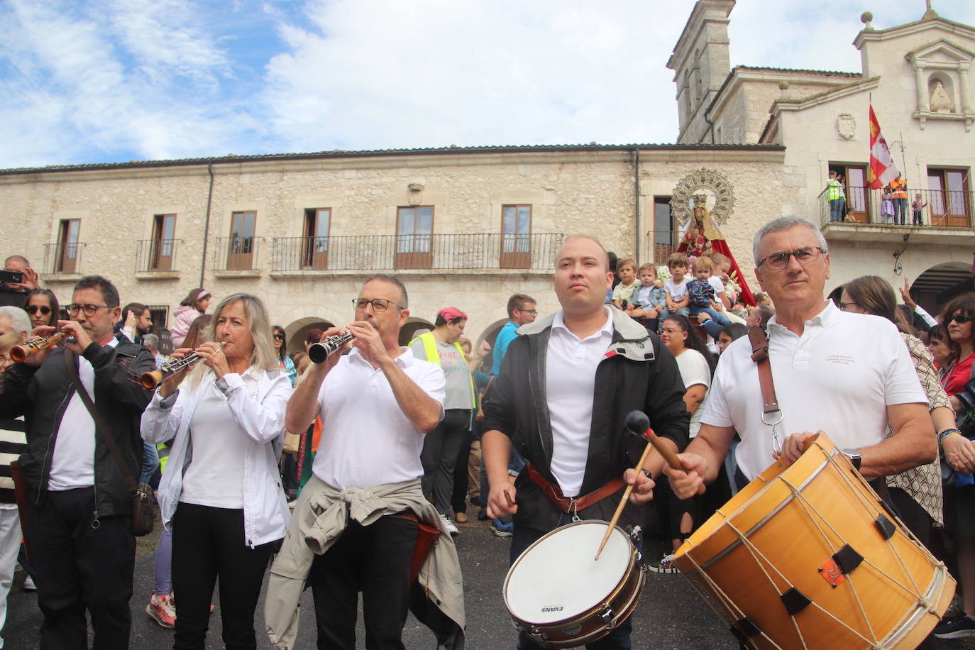
[{"label": "white top under the blonde woman's open white jacket", "polygon": [[[241,375],[248,398],[257,401],[260,371]],[[244,507],[244,461],[247,433],[237,423],[227,398],[208,373],[203,395],[189,421],[190,458],[179,501],[212,508]]]}]

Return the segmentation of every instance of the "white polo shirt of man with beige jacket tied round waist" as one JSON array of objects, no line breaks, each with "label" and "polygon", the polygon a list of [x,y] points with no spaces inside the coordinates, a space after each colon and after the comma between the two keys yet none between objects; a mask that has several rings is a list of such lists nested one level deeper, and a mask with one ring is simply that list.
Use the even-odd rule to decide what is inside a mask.
[{"label": "white polo shirt of man with beige jacket tied round waist", "polygon": [[[424,393],[441,403],[444,371],[400,348],[396,363]],[[359,350],[342,357],[322,382],[318,394],[322,438],[312,472],[337,489],[369,489],[423,476],[423,433],[412,425],[393,395],[382,370]]]}]

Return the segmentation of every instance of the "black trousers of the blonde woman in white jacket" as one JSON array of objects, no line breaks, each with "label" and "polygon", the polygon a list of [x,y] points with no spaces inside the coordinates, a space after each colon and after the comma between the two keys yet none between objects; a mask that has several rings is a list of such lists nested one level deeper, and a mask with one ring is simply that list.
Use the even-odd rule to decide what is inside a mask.
[{"label": "black trousers of the blonde woman in white jacket", "polygon": [[255,648],[254,608],[274,542],[253,549],[244,539],[244,511],[180,503],[173,516],[173,647],[203,648],[210,602],[220,580],[220,621],[227,648]]}]

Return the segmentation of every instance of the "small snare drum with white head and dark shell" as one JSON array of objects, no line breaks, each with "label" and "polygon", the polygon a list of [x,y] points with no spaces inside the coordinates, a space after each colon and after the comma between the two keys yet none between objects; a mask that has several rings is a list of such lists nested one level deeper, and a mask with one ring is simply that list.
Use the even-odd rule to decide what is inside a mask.
[{"label": "small snare drum with white head and dark shell", "polygon": [[643,592],[643,561],[614,528],[594,559],[606,521],[575,521],[529,546],[504,579],[515,628],[546,648],[591,643],[626,620]]}]

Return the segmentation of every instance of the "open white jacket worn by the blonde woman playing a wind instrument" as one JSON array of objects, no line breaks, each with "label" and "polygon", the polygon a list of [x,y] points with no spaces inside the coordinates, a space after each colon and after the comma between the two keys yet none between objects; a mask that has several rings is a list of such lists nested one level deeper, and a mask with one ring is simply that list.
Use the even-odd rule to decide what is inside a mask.
[{"label": "open white jacket worn by the blonde woman playing a wind instrument", "polygon": [[[254,368],[248,370],[254,371]],[[278,472],[278,457],[285,437],[285,408],[292,396],[292,383],[281,370],[259,372],[257,399],[248,396],[244,379],[237,373],[223,375],[216,387],[227,398],[230,412],[247,444],[244,458],[244,539],[254,548],[285,536],[290,512]],[[203,396],[215,382],[207,369],[200,383],[190,390],[178,390],[163,400],[157,392],[142,413],[142,440],[159,444],[174,440],[166,472],[159,481],[159,511],[163,525],[172,527],[173,515],[182,493],[182,478],[192,459],[189,423]]]}]

